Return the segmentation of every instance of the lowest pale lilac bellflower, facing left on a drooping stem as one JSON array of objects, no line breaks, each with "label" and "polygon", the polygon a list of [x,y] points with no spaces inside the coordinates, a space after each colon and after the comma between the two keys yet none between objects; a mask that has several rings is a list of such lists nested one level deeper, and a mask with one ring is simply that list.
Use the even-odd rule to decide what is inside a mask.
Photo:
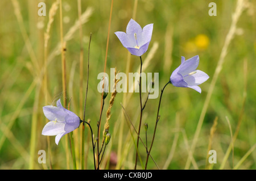
[{"label": "lowest pale lilac bellflower, facing left on a drooping stem", "polygon": [[74,131],[79,127],[81,121],[75,113],[66,110],[57,100],[57,107],[44,106],[44,115],[50,120],[43,128],[42,134],[47,136],[55,136],[55,142],[58,145],[60,138],[65,134]]}]

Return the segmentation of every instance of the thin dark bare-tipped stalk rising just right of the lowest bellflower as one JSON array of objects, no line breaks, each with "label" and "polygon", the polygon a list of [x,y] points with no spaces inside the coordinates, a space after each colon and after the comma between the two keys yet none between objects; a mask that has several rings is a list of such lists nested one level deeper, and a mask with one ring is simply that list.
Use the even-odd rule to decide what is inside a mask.
[{"label": "thin dark bare-tipped stalk rising just right of the lowest bellflower", "polygon": [[[90,33],[90,40],[92,40],[92,33]],[[85,100],[84,100],[84,117],[82,120],[85,120],[85,110],[86,110],[86,100],[88,94],[88,82],[89,82],[89,60],[90,60],[90,40],[89,40],[89,47],[88,47],[88,66],[87,66],[87,81],[86,81],[86,93],[85,93]],[[82,122],[82,157],[81,157],[81,169],[84,170],[84,121]],[[86,154],[88,156],[88,154]]]}]

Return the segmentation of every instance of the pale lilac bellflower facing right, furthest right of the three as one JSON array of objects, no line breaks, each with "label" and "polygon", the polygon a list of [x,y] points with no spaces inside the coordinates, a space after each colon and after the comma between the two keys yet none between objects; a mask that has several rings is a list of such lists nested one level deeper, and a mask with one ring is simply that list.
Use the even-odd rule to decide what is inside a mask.
[{"label": "pale lilac bellflower facing right, furthest right of the three", "polygon": [[196,70],[199,65],[199,56],[189,58],[185,61],[185,57],[181,56],[180,66],[172,72],[170,81],[176,87],[189,87],[201,93],[198,86],[207,81],[209,76],[204,71]]}]

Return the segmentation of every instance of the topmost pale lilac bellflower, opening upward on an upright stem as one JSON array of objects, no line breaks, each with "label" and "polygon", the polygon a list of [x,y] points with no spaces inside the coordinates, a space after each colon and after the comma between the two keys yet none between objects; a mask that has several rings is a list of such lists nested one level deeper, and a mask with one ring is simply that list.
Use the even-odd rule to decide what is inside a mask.
[{"label": "topmost pale lilac bellflower, opening upward on an upright stem", "polygon": [[147,24],[142,30],[141,26],[131,19],[126,27],[126,33],[117,31],[115,35],[117,35],[123,47],[127,48],[131,54],[142,56],[150,44],[152,31],[153,24]]}]

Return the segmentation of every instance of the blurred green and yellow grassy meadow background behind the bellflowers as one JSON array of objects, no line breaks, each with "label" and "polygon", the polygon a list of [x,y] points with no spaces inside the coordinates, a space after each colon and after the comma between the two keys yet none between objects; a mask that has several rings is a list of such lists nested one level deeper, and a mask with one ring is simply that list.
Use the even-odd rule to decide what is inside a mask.
[{"label": "blurred green and yellow grassy meadow background behind the bellflowers", "polygon": [[[39,2],[46,3],[46,16],[39,16]],[[70,152],[67,162],[65,138],[57,146],[54,136],[43,136],[46,124],[43,106],[63,101],[61,81],[60,12],[59,6],[49,31],[47,46],[47,103],[43,84],[44,33],[49,22],[49,9],[55,1],[13,0],[0,1],[0,169],[72,169]],[[209,16],[210,2],[216,2],[217,16]],[[168,82],[172,71],[180,65],[181,56],[186,59],[197,54],[200,70],[209,75],[207,82],[200,85],[202,93],[168,85],[164,90],[160,108],[160,121],[151,151],[160,169],[220,169],[228,146],[239,132],[233,149],[222,169],[256,169],[256,124],[255,124],[255,50],[256,20],[255,1],[244,1],[243,10],[236,24],[234,37],[228,45],[222,70],[210,98],[209,106],[201,127],[199,139],[193,151],[193,161],[186,166],[197,123],[205,98],[212,82],[217,62],[220,59],[226,35],[232,23],[232,14],[237,1],[113,1],[113,12],[109,33],[109,48],[106,73],[110,68],[120,72],[136,72],[139,57],[130,56],[122,47],[116,31],[126,31],[127,23],[134,18],[142,27],[154,23],[151,43],[142,60],[145,73],[159,73],[160,89]],[[82,37],[76,21],[79,19],[77,1],[62,1],[63,36],[67,43],[65,53],[67,71],[67,101],[70,110],[82,117],[85,98],[88,44],[90,45],[89,90],[85,119],[90,119],[94,134],[100,115],[101,95],[97,91],[100,80],[98,73],[104,71],[106,43],[110,16],[110,0],[81,1],[81,13],[90,12],[82,24]],[[82,87],[80,84],[80,49],[83,48]],[[127,70],[127,61],[130,68]],[[36,68],[38,65],[38,68]],[[247,86],[246,86],[247,85]],[[80,88],[82,95],[80,98]],[[147,93],[142,94],[143,101]],[[110,94],[103,110],[102,129]],[[110,133],[102,169],[133,169],[135,146],[131,138],[126,115],[120,103],[126,101],[125,109],[138,128],[139,94],[118,93],[112,107]],[[148,144],[151,143],[155,125],[158,99],[150,99],[143,112],[142,124],[148,123]],[[82,106],[81,106],[82,103]],[[244,104],[243,104],[244,103]],[[217,117],[216,131],[210,139],[210,128]],[[230,127],[229,124],[230,123]],[[241,124],[240,124],[241,123]],[[231,128],[231,132],[230,132]],[[93,169],[93,153],[89,129],[85,129],[86,169]],[[134,138],[136,133],[131,127]],[[145,142],[144,129],[141,131]],[[81,127],[74,134],[77,167],[81,163]],[[216,150],[217,163],[208,163],[208,145]],[[38,163],[38,150],[46,150],[47,162]],[[139,146],[144,164],[146,150]],[[51,156],[49,156],[51,153]],[[51,159],[51,163],[49,160]],[[209,167],[208,167],[209,166]],[[142,169],[138,162],[138,169]],[[148,169],[158,169],[150,159]]]}]

